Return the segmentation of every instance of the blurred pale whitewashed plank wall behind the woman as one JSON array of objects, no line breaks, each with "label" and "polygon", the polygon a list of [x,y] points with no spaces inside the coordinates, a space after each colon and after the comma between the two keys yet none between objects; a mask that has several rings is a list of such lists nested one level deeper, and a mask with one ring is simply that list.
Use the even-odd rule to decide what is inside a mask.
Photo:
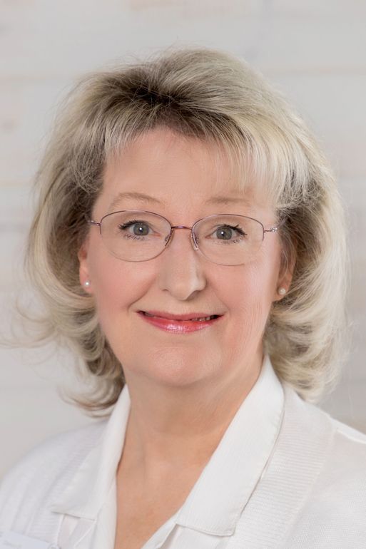
[{"label": "blurred pale whitewashed plank wall behind the woman", "polygon": [[[0,327],[24,284],[31,183],[78,76],[168,46],[242,56],[285,93],[332,160],[350,218],[352,351],[320,406],[366,432],[365,0],[0,0]],[[92,421],[65,404],[62,350],[0,349],[0,476],[52,433]]]}]

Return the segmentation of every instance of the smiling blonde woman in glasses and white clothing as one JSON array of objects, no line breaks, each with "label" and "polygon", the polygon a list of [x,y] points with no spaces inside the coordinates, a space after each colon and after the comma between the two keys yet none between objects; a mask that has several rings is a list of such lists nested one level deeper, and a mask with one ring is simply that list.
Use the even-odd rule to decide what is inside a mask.
[{"label": "smiling blonde woman in glasses and white clothing", "polygon": [[6,547],[364,548],[366,436],[311,404],[339,377],[342,206],[285,100],[208,49],[93,74],[38,183],[44,334],[114,408],[9,471]]}]

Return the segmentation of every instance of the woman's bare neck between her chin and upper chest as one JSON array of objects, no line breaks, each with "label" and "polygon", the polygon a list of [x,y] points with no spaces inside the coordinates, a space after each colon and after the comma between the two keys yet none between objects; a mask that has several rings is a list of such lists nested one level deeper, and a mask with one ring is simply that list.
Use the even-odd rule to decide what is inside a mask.
[{"label": "woman's bare neck between her chin and upper chest", "polygon": [[124,466],[141,471],[146,479],[156,478],[157,471],[203,468],[257,381],[262,362],[260,351],[225,380],[183,387],[153,384],[125,372],[131,413]]}]

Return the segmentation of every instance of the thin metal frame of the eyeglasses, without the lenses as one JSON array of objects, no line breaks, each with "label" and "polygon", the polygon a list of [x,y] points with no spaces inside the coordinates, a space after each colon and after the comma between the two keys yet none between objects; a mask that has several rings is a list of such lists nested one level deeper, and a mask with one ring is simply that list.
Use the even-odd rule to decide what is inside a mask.
[{"label": "thin metal frame of the eyeglasses, without the lenses", "polygon": [[[168,222],[168,224],[171,226],[171,231],[169,233],[169,237],[168,237],[168,240],[166,241],[166,245],[163,247],[163,250],[161,250],[161,252],[158,253],[158,255],[161,255],[163,253],[164,250],[166,250],[166,248],[168,247],[168,244],[169,242],[171,242],[171,240],[173,239],[173,235],[174,235],[174,230],[175,229],[189,229],[190,230],[190,238],[191,238],[191,242],[193,243],[193,250],[195,250],[195,252],[199,251],[200,253],[201,250],[199,249],[198,247],[198,242],[195,240],[195,233],[194,233],[194,228],[195,228],[195,225],[198,224],[198,222],[204,220],[204,219],[208,219],[208,217],[218,217],[220,215],[233,215],[233,216],[236,216],[236,217],[246,217],[247,219],[251,219],[253,221],[256,221],[257,223],[259,223],[262,227],[262,230],[263,230],[263,239],[262,239],[262,242],[264,240],[264,237],[265,237],[265,233],[266,232],[278,232],[278,230],[280,229],[280,227],[285,223],[285,218],[283,220],[280,220],[280,222],[273,226],[273,227],[270,227],[269,229],[265,229],[264,228],[264,225],[262,222],[258,221],[258,219],[255,219],[254,217],[249,217],[248,215],[240,215],[240,214],[213,214],[213,215],[206,215],[205,217],[201,217],[199,220],[195,221],[192,225],[192,227],[188,227],[187,225],[172,225],[171,222],[166,219],[166,217],[164,217],[163,215],[160,215],[156,212],[150,212],[148,210],[118,210],[116,212],[110,212],[110,213],[107,213],[106,215],[103,215],[103,217],[101,217],[101,220],[99,222],[97,221],[94,221],[94,220],[91,220],[89,219],[88,217],[86,217],[86,221],[90,224],[90,225],[98,225],[99,227],[99,233],[101,235],[101,225],[102,225],[102,222],[103,222],[103,219],[105,219],[106,217],[109,217],[110,215],[114,215],[116,213],[124,213],[124,212],[141,212],[141,213],[152,213],[153,215],[158,215],[158,217],[161,217],[163,220],[166,220],[166,222]],[[114,255],[114,254],[113,254]],[[158,255],[155,255],[154,257],[151,257],[150,259],[153,260],[155,259],[155,257],[158,257]],[[205,254],[203,254],[205,256]],[[117,257],[117,256],[116,256]],[[206,257],[206,256],[205,256]],[[118,259],[121,259],[121,258],[118,258]],[[215,263],[215,261],[212,261],[210,260],[209,257],[207,257],[206,259],[208,259],[209,261],[211,261],[212,263]],[[130,262],[135,262],[133,260],[123,260],[123,261],[130,261]],[[138,262],[140,261],[149,261],[149,260],[139,260]],[[220,265],[220,263],[216,264],[216,265]],[[238,265],[241,265],[240,263]]]}]

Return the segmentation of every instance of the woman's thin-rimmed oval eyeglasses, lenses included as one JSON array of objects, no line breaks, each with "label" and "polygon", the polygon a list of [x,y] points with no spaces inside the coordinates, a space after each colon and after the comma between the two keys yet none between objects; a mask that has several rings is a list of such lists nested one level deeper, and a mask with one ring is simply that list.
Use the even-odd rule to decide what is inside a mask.
[{"label": "woman's thin-rimmed oval eyeglasses, lenses included", "polygon": [[160,255],[176,229],[189,229],[193,249],[217,265],[244,265],[257,254],[266,232],[277,232],[285,222],[265,229],[245,215],[208,215],[193,227],[171,225],[165,217],[145,210],[123,210],[104,215],[98,225],[103,244],[120,260],[148,261]]}]

